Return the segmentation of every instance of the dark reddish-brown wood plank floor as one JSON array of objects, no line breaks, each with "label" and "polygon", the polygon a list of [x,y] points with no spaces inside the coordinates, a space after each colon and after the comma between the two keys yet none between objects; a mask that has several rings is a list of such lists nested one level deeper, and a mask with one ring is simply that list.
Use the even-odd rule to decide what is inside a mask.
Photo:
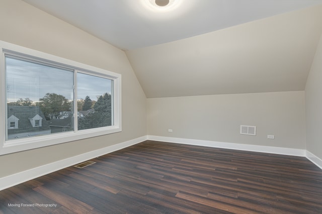
[{"label": "dark reddish-brown wood plank floor", "polygon": [[93,161],[1,191],[0,213],[322,213],[303,157],[146,141]]}]

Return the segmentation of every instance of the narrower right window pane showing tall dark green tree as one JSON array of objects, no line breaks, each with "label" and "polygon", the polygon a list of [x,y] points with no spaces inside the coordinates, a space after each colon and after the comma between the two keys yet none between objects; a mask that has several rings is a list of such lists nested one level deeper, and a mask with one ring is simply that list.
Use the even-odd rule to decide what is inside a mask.
[{"label": "narrower right window pane showing tall dark green tree", "polygon": [[113,80],[77,73],[78,130],[112,126]]}]

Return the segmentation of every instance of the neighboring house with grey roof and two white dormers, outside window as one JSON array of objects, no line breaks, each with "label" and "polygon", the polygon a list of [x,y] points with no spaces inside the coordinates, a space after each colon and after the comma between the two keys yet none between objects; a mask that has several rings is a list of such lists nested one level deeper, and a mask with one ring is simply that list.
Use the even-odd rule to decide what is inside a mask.
[{"label": "neighboring house with grey roof and two white dormers, outside window", "polygon": [[50,134],[39,106],[8,106],[8,139]]}]

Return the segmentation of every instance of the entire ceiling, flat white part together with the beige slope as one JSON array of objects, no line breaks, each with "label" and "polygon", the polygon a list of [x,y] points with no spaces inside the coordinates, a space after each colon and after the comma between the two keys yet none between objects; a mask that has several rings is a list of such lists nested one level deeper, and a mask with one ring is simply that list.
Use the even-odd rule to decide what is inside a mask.
[{"label": "entire ceiling, flat white part together with the beige slope", "polygon": [[322,0],[24,1],[125,50],[147,97],[304,90],[322,32]]}]

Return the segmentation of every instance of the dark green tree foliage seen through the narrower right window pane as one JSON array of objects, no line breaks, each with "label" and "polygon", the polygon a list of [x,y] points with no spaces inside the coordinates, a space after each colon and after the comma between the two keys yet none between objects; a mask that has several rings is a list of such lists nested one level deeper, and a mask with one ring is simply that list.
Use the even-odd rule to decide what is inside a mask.
[{"label": "dark green tree foliage seen through the narrower right window pane", "polygon": [[94,112],[78,119],[78,129],[92,129],[112,125],[111,94],[104,93],[94,104]]}]

